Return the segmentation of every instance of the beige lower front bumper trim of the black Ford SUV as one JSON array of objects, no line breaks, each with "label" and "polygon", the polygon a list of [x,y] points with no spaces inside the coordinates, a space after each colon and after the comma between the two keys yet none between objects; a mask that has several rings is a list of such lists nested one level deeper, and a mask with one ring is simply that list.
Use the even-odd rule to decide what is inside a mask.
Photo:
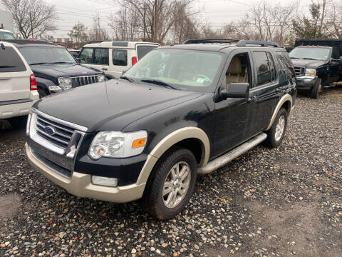
[{"label": "beige lower front bumper trim of the black Ford SUV", "polygon": [[33,168],[36,168],[44,176],[75,196],[115,203],[127,203],[141,198],[142,193],[144,193],[145,183],[111,188],[108,186],[93,185],[91,183],[91,176],[88,174],[73,172],[71,179],[65,178],[33,156],[27,143],[25,144],[25,148],[28,161]]}]

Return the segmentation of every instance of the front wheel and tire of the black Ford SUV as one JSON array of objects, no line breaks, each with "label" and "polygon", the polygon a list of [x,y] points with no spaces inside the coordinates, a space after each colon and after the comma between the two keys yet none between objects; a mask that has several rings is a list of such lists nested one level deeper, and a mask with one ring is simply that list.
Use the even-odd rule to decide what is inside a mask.
[{"label": "front wheel and tire of the black Ford SUV", "polygon": [[[176,166],[180,168],[178,170],[179,176],[177,176],[177,170],[175,171]],[[181,180],[180,177],[183,168],[184,171],[187,171],[188,175]],[[175,171],[173,175],[180,182],[177,182],[175,176],[172,176],[172,170]],[[196,158],[190,150],[175,147],[167,151],[153,169],[147,181],[144,195],[142,196],[142,205],[145,207],[147,213],[160,220],[172,218],[177,213],[180,213],[192,196],[196,176]],[[182,184],[185,186],[182,187]],[[183,194],[181,195],[180,192]],[[164,196],[163,193],[165,194]],[[172,196],[175,196],[175,198],[172,198]],[[174,199],[176,201],[172,201]]]}]

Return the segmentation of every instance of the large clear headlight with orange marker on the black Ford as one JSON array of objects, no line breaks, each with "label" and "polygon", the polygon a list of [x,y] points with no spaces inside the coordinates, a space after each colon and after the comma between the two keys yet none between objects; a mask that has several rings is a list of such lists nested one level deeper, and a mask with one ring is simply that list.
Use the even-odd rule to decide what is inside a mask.
[{"label": "large clear headlight with orange marker on the black Ford", "polygon": [[110,158],[136,156],[144,150],[146,138],[146,131],[130,133],[98,132],[90,144],[88,155],[94,160],[98,160],[103,156]]}]

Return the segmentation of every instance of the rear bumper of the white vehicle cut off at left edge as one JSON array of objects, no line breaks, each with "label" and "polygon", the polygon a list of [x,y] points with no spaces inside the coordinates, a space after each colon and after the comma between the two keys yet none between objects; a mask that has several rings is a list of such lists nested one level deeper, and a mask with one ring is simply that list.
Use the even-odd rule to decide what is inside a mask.
[{"label": "rear bumper of the white vehicle cut off at left edge", "polygon": [[[16,116],[27,115],[34,103],[39,99],[38,92],[31,93],[30,99],[0,102],[0,119],[9,119]],[[24,101],[25,100],[25,101]]]}]

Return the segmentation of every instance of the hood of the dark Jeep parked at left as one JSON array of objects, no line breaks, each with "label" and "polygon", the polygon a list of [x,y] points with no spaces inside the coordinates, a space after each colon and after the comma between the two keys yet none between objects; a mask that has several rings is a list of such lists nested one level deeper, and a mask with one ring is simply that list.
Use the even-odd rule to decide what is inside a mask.
[{"label": "hood of the dark Jeep parked at left", "polygon": [[42,64],[30,65],[35,76],[51,79],[60,76],[87,76],[102,73],[81,64]]}]

